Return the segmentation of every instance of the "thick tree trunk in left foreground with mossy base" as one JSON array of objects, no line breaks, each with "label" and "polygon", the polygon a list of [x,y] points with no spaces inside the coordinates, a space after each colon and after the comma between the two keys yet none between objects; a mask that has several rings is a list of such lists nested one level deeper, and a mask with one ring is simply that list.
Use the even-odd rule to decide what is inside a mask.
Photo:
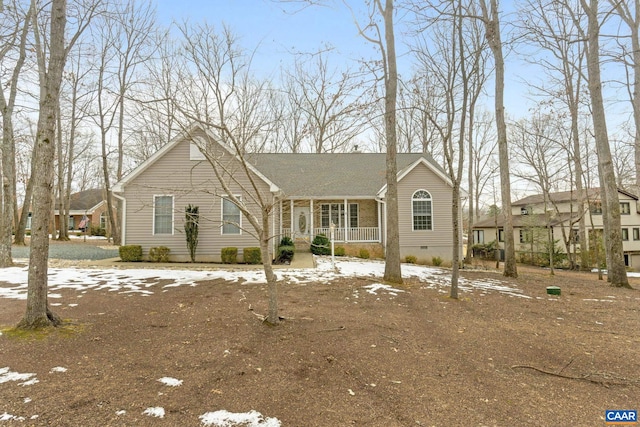
[{"label": "thick tree trunk in left foreground with mossy base", "polygon": [[61,319],[49,310],[47,272],[49,260],[49,214],[53,205],[53,159],[55,155],[56,114],[65,61],[66,0],[52,0],[49,66],[41,93],[36,139],[34,206],[31,253],[27,287],[27,310],[19,328],[57,326]]}]

